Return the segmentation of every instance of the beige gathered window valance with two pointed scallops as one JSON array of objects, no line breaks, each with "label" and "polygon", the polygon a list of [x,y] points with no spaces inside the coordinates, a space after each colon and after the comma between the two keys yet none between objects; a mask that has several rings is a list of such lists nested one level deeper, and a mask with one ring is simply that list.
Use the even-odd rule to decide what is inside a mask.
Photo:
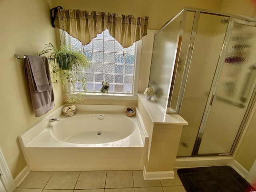
[{"label": "beige gathered window valance with two pointed scallops", "polygon": [[127,48],[147,34],[148,17],[134,18],[132,15],[63,8],[63,12],[56,12],[54,25],[80,40],[83,45],[89,44],[97,34],[108,29],[109,34]]}]

